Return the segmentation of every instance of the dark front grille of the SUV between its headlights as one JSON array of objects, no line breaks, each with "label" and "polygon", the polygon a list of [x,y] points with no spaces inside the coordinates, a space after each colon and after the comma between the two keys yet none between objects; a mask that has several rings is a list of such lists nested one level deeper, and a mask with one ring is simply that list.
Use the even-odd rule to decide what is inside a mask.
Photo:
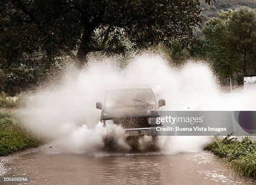
[{"label": "dark front grille of the SUV between its headlights", "polygon": [[149,126],[147,117],[115,118],[114,123],[121,125],[123,128],[145,128]]}]

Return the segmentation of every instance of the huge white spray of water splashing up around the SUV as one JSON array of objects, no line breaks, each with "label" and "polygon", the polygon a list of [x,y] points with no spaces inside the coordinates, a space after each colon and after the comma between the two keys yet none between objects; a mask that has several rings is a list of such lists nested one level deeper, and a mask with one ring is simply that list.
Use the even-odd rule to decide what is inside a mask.
[{"label": "huge white spray of water splashing up around the SUV", "polygon": [[[157,99],[165,99],[160,110],[255,110],[256,97],[224,94],[210,67],[203,61],[188,61],[177,68],[159,54],[145,52],[129,57],[128,65],[120,65],[120,57],[92,55],[87,66],[74,70],[68,66],[58,84],[53,83],[30,95],[20,110],[29,129],[38,135],[61,141],[71,153],[97,153],[103,138],[115,138],[119,152],[128,153],[125,132],[117,125],[102,127],[101,110],[107,90],[126,83],[148,83]],[[158,137],[160,153],[197,152],[209,141],[207,137]],[[152,142],[142,138],[141,150]]]}]

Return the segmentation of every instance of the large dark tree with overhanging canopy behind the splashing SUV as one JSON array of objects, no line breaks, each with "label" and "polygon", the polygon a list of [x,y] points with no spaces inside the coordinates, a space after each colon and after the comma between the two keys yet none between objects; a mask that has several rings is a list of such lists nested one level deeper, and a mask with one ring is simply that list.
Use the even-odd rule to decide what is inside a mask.
[{"label": "large dark tree with overhanging canopy behind the splashing SUV", "polygon": [[2,62],[38,48],[47,61],[77,51],[141,49],[172,40],[186,46],[200,21],[198,0],[3,0],[0,2]]}]

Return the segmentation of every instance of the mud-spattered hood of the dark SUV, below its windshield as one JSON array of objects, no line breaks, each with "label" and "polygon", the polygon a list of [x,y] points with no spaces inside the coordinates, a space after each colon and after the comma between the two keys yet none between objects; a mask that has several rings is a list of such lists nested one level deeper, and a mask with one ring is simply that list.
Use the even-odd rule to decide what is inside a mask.
[{"label": "mud-spattered hood of the dark SUV, below its windshield", "polygon": [[102,119],[108,120],[116,117],[155,117],[151,111],[157,111],[157,106],[152,107],[108,107],[102,110]]}]

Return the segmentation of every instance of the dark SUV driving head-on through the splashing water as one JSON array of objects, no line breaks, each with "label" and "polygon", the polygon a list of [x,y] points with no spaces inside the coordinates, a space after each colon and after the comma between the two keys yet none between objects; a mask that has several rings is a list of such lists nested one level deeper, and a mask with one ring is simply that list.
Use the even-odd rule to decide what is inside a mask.
[{"label": "dark SUV driving head-on through the splashing water", "polygon": [[156,101],[149,85],[128,85],[108,91],[103,104],[97,102],[96,108],[102,110],[104,126],[118,124],[129,136],[156,137],[155,117],[159,117],[159,107],[164,105],[164,99]]}]

